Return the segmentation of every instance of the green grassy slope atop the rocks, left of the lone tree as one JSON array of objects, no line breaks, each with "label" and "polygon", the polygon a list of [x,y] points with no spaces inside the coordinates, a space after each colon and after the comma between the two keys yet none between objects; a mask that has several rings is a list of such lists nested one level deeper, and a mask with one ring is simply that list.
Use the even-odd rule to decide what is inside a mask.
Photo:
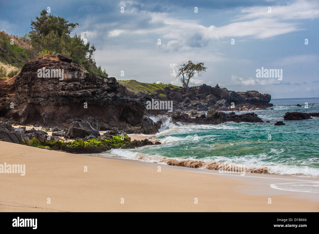
[{"label": "green grassy slope atop the rocks, left of the lone tree", "polygon": [[169,88],[179,88],[176,85],[172,84],[155,84],[155,83],[142,83],[138,82],[136,80],[129,80],[129,81],[118,81],[121,85],[124,85],[128,90],[134,92],[134,93],[148,93],[153,94],[156,92],[156,90],[164,89],[166,87]]}]

